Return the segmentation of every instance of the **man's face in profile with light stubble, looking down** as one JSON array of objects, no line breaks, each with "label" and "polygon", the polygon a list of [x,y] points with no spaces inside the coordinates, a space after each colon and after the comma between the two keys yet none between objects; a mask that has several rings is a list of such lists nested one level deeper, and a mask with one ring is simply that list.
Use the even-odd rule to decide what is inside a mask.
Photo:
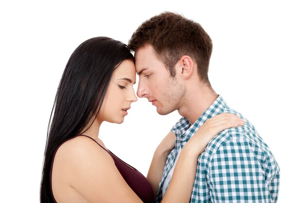
[{"label": "man's face in profile with light stubble, looking down", "polygon": [[139,75],[138,97],[147,98],[161,115],[179,109],[185,88],[178,79],[170,76],[151,45],[135,52],[135,68]]}]

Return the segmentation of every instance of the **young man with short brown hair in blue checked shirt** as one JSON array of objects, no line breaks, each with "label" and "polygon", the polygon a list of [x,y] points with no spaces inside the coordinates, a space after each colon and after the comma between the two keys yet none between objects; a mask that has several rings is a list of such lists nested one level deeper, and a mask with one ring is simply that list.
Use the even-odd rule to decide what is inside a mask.
[{"label": "young man with short brown hair in blue checked shirt", "polygon": [[246,123],[220,132],[199,156],[190,202],[275,203],[280,168],[255,128],[212,89],[212,42],[201,25],[165,12],[142,23],[129,47],[139,75],[137,95],[146,97],[161,115],[178,110],[183,116],[172,128],[176,145],[158,189],[152,185],[157,203],[170,184],[181,148],[208,118],[222,112],[235,113]]}]

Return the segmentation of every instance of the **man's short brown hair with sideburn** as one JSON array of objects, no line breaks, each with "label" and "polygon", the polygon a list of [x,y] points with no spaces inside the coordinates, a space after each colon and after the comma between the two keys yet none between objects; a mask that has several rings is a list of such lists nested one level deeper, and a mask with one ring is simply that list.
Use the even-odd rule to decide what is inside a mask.
[{"label": "man's short brown hair with sideburn", "polygon": [[152,45],[155,55],[165,64],[172,77],[174,66],[183,55],[189,55],[197,64],[199,78],[210,85],[208,70],[212,40],[201,25],[172,12],[163,12],[143,22],[129,40],[136,51]]}]

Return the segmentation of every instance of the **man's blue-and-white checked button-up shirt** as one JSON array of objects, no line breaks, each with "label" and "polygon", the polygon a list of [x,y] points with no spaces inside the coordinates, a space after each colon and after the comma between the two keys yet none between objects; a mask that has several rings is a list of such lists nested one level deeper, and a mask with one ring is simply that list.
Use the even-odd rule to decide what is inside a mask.
[{"label": "man's blue-and-white checked button-up shirt", "polygon": [[[162,200],[162,186],[171,170],[179,147],[209,118],[222,112],[234,113],[244,126],[225,129],[214,137],[199,156],[191,203],[276,203],[280,168],[256,129],[239,112],[230,109],[219,96],[190,126],[182,117],[172,128],[175,148],[166,161],[156,202]],[[183,187],[183,185],[181,185]]]}]

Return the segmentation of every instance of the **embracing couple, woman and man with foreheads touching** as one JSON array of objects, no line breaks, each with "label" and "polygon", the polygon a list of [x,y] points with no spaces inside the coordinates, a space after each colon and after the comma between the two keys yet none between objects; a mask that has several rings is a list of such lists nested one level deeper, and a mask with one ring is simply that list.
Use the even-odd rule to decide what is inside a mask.
[{"label": "embracing couple, woman and man with foreheads touching", "polygon": [[[202,26],[171,12],[143,22],[128,46],[109,37],[81,43],[57,89],[40,202],[276,203],[279,166],[253,125],[212,89],[211,53]],[[137,101],[136,74],[138,97],[161,115],[182,116],[147,177],[98,137],[102,122],[122,123]]]}]

